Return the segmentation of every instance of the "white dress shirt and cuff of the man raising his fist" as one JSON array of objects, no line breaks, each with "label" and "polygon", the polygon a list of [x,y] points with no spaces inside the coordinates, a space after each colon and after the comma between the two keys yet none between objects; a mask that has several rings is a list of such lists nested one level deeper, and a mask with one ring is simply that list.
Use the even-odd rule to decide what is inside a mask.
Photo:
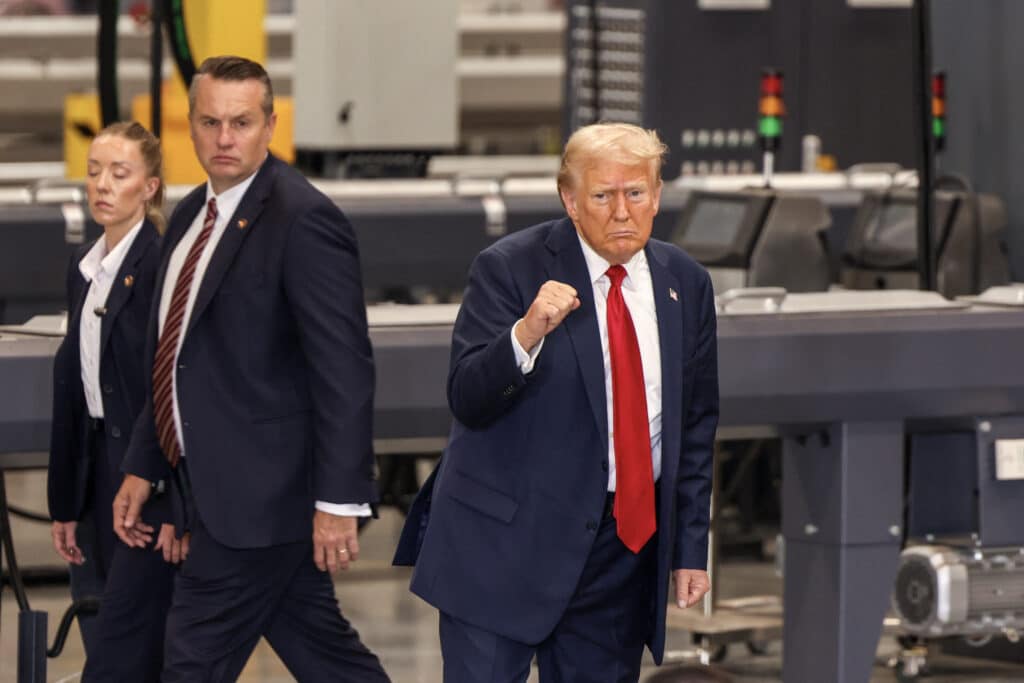
[{"label": "white dress shirt and cuff of the man raising his fist", "polygon": [[[605,272],[611,267],[604,258],[577,233],[583,255],[590,272],[594,293],[594,307],[597,309],[597,327],[601,333],[601,353],[604,356],[604,395],[607,401],[608,419],[608,490],[615,489],[614,420],[611,395],[611,355],[608,352],[608,289],[611,281]],[[654,286],[650,279],[650,266],[643,250],[634,254],[625,263],[626,279],[623,280],[623,299],[633,318],[633,327],[640,346],[640,360],[643,365],[644,389],[647,395],[647,421],[650,429],[650,457],[656,481],[662,474],[662,348],[658,344],[657,311],[654,306]],[[572,315],[572,313],[569,313]],[[518,325],[518,323],[516,324]],[[512,327],[512,348],[516,361],[523,374],[534,369],[534,362],[544,345],[542,340],[530,353],[519,345]]]}]

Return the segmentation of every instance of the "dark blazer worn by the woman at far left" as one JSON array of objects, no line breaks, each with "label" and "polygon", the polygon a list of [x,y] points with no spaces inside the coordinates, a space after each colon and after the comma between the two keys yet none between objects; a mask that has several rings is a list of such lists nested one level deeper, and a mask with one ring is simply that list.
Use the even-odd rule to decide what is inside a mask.
[{"label": "dark blazer worn by the woman at far left", "polygon": [[[102,239],[102,238],[99,238]],[[58,521],[81,518],[89,492],[92,468],[86,440],[88,408],[82,386],[79,325],[87,283],[78,268],[93,243],[79,247],[68,265],[68,334],[53,360],[53,421],[47,480],[50,516]],[[112,480],[121,478],[124,458],[135,417],[144,400],[142,356],[150,317],[153,286],[160,262],[160,234],[148,220],[142,223],[125,254],[100,324],[99,382],[103,392],[108,467]],[[109,505],[110,501],[103,503]]]}]

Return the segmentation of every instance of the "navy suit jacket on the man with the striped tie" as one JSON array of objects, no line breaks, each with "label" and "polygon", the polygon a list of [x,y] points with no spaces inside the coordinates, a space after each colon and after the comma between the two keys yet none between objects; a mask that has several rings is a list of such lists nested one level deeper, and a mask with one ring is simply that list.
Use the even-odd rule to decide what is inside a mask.
[{"label": "navy suit jacket on the man with the striped tie", "polygon": [[[171,216],[147,368],[168,261],[205,200],[204,184]],[[373,358],[355,236],[338,207],[268,157],[198,286],[175,373],[191,494],[209,532],[233,548],[304,541],[314,501],[376,502]],[[170,471],[152,379],[124,470],[151,481]]]}]

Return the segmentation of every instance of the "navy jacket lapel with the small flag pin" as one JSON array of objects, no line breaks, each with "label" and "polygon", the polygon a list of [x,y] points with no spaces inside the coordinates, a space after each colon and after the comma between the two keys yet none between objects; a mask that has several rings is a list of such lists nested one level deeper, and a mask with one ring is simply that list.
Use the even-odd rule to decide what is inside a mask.
[{"label": "navy jacket lapel with the small flag pin", "polygon": [[[683,393],[683,359],[687,356],[683,340],[683,306],[686,301],[679,281],[669,270],[664,255],[651,249],[649,243],[645,251],[654,290],[658,347],[662,351],[662,453],[674,454],[679,452],[682,428],[680,400]],[[663,483],[674,485],[676,462],[678,461],[671,458],[663,458]],[[662,500],[667,502],[664,496]]]}]

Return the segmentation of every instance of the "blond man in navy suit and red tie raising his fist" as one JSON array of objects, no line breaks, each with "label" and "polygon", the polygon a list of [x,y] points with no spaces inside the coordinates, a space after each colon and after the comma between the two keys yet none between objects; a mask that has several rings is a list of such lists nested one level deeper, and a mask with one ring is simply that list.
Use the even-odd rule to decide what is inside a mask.
[{"label": "blond man in navy suit and red tie raising his fist", "polygon": [[[670,573],[706,572],[718,422],[707,271],[649,240],[665,145],[583,128],[568,218],[474,262],[452,340],[455,423],[395,562],[440,611],[446,683],[636,681],[660,661]],[[432,485],[430,485],[432,483]]]}]

